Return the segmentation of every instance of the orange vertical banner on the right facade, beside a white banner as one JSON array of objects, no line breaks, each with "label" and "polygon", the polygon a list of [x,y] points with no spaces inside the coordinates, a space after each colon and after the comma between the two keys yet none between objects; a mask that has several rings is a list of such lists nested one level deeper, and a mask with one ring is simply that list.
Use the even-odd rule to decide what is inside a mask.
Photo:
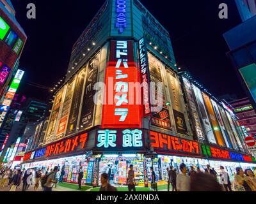
[{"label": "orange vertical banner on the right facade, beside a white banner", "polygon": [[213,107],[211,104],[211,99],[204,92],[202,94],[204,97],[205,106],[207,107],[207,110],[208,110],[208,113],[210,116],[210,120],[212,122],[212,127],[213,127],[212,131],[214,131],[214,133],[216,135],[218,144],[221,146],[225,146],[225,141],[223,140],[223,136],[220,131],[220,126],[218,124],[218,120],[216,119],[216,116],[214,114],[214,110],[213,110]]}]

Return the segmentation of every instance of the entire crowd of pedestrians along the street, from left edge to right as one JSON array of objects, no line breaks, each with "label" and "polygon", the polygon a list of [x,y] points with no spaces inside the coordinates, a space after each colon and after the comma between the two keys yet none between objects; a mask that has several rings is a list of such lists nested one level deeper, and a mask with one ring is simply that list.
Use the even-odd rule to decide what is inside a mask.
[{"label": "entire crowd of pedestrians along the street, from left edge to right", "polygon": [[[195,168],[182,163],[179,166],[180,173],[173,166],[168,167],[168,184],[167,191],[256,191],[256,177],[251,169],[243,171],[241,167],[236,168],[236,175],[234,177],[233,189],[232,182],[228,172],[225,171],[224,166],[220,166],[220,174],[211,168],[208,164],[202,172],[200,168]],[[157,191],[157,175],[153,169],[151,171],[151,189]],[[44,172],[44,168],[39,170],[28,169],[28,170],[11,170],[5,168],[0,170],[2,177],[1,186],[9,186],[10,191],[16,191],[18,186],[22,185],[22,191],[27,191],[29,186],[35,184],[34,191],[37,191],[38,187],[42,186],[43,191],[52,191],[52,187],[56,187],[58,182],[63,181],[63,175],[65,171],[58,166],[53,169],[47,169]],[[78,186],[81,189],[81,180],[83,179],[83,171],[79,171],[78,174]],[[100,191],[116,191],[116,187],[109,184],[108,173],[102,173],[100,176]],[[134,170],[132,164],[129,166],[127,172],[127,187],[129,191],[136,191],[136,180],[134,176]]]}]

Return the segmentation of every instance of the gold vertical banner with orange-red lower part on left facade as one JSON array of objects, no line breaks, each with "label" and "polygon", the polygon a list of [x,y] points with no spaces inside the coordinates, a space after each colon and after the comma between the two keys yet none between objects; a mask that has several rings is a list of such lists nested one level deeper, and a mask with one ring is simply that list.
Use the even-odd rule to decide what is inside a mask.
[{"label": "gold vertical banner with orange-red lower part on left facade", "polygon": [[61,110],[60,121],[58,124],[58,130],[57,130],[57,136],[56,136],[57,140],[63,136],[67,128],[68,113],[70,112],[70,108],[71,108],[72,96],[74,94],[74,89],[75,89],[75,82],[76,82],[76,77],[74,77],[71,80],[71,82],[69,82],[67,87],[63,107]]}]

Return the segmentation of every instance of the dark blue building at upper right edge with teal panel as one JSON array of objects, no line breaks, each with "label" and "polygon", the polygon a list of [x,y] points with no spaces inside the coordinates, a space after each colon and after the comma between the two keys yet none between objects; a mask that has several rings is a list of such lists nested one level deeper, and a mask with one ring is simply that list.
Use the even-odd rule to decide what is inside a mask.
[{"label": "dark blue building at upper right edge with teal panel", "polygon": [[243,22],[223,36],[237,77],[256,108],[256,6],[254,0],[236,0],[236,3]]}]

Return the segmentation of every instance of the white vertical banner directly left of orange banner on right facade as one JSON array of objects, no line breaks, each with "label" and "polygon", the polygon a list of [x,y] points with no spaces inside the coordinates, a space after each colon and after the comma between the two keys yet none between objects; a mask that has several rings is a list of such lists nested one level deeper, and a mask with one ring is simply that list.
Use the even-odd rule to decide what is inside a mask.
[{"label": "white vertical banner directly left of orange banner on right facade", "polygon": [[196,103],[199,108],[200,116],[201,116],[203,124],[204,124],[205,133],[207,133],[207,135],[206,135],[207,139],[209,142],[216,144],[217,142],[216,142],[213,131],[211,131],[212,127],[211,127],[211,123],[210,123],[209,117],[208,117],[206,109],[205,109],[204,99],[202,97],[201,91],[195,85],[192,85],[192,88],[193,88],[193,91],[195,94],[195,99],[196,99]]}]

